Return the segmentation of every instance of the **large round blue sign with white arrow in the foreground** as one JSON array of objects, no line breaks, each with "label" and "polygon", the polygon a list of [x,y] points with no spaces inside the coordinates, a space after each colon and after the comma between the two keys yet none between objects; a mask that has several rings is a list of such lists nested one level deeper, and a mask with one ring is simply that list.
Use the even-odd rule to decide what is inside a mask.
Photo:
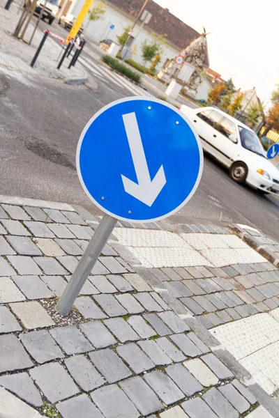
[{"label": "large round blue sign with white arrow in the foreground", "polygon": [[190,122],[157,99],[108,104],[87,123],[77,146],[77,172],[91,201],[133,222],[179,210],[197,189],[202,169],[202,146]]}]

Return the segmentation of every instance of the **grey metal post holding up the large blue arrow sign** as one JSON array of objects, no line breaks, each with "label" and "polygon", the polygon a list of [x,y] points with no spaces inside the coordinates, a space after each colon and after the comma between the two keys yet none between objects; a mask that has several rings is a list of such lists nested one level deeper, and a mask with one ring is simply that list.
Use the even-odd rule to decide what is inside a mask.
[{"label": "grey metal post holding up the large blue arrow sign", "polygon": [[68,315],[71,307],[75,303],[77,296],[82,290],[87,277],[98,260],[98,256],[105,246],[110,234],[112,233],[114,226],[117,222],[117,219],[111,217],[110,215],[104,215],[101,220],[96,232],[93,235],[93,238],[89,242],[88,247],[84,251],[80,263],[78,263],[75,271],[70,278],[63,294],[56,304],[56,311],[63,316]]}]

